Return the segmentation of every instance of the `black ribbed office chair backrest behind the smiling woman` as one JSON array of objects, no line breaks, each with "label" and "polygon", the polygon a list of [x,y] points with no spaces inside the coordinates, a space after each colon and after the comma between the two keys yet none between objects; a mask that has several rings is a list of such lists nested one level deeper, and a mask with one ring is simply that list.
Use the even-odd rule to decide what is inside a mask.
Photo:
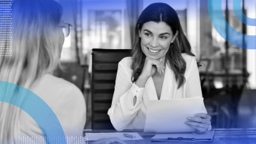
[{"label": "black ribbed office chair backrest behind the smiling woman", "polygon": [[92,49],[91,129],[114,129],[108,116],[115,90],[118,63],[130,49]]}]

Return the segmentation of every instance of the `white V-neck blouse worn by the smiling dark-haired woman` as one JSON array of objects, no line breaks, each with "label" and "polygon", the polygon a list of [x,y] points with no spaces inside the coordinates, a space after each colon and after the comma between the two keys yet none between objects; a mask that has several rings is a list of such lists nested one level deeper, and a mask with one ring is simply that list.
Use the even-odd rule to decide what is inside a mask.
[{"label": "white V-neck blouse worn by the smiling dark-haired woman", "polygon": [[[165,79],[162,85],[160,100],[179,98],[203,97],[200,87],[200,78],[196,58],[182,54],[186,61],[186,82],[178,88],[174,72],[165,65]],[[146,112],[150,100],[158,100],[152,77],[148,78],[144,88],[139,88],[132,83],[132,57],[123,58],[118,63],[117,77],[115,80],[115,92],[108,115],[117,131],[124,129],[144,129]],[[136,104],[133,104],[136,96]],[[205,106],[203,112],[207,113]],[[209,129],[211,126],[209,126]]]}]

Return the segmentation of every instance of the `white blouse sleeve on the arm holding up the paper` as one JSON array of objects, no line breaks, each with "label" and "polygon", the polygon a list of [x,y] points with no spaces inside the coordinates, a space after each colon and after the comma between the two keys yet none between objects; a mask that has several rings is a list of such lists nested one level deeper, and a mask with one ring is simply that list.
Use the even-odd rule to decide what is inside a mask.
[{"label": "white blouse sleeve on the arm holding up the paper", "polygon": [[[198,71],[198,65],[196,63],[196,59],[192,58],[191,63],[187,65],[188,68],[188,78],[186,79],[186,98],[200,97],[203,98],[200,77]],[[202,112],[207,114],[207,110],[205,109],[205,105],[202,105]],[[210,125],[208,127],[208,131],[212,129]]]}]

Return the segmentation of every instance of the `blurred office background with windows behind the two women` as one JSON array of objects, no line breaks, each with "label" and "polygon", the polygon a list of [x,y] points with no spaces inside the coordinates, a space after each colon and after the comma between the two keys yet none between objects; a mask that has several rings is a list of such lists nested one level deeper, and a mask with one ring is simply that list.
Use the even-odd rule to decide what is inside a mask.
[{"label": "blurred office background with windows behind the two women", "polygon": [[[65,70],[58,69],[54,74],[84,93],[87,129],[91,129],[91,49],[132,48],[136,20],[143,8],[154,2],[167,3],[177,11],[193,53],[202,64],[200,81],[212,126],[256,127],[256,51],[233,46],[218,34],[208,14],[207,0],[58,1],[63,6],[64,22],[73,27],[60,59]],[[236,17],[233,0],[222,3],[222,11],[213,13],[223,13],[238,32],[256,35],[255,27],[244,25]],[[242,0],[241,5],[245,15],[256,18],[256,1]],[[222,29],[226,31],[226,27]],[[243,37],[237,41],[247,42]]]}]

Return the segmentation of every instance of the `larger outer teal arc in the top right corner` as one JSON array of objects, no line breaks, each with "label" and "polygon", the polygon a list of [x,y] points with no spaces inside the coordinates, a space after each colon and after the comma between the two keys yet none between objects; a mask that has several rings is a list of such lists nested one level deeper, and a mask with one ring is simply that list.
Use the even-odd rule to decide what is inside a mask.
[{"label": "larger outer teal arc in the top right corner", "polygon": [[[237,3],[237,1],[240,1],[240,0],[234,0],[234,3]],[[215,27],[215,30],[219,33],[221,37],[223,37],[226,41],[229,41],[229,43],[233,44],[234,46],[247,48],[247,49],[256,49],[255,35],[247,35],[247,34],[241,34],[240,32],[237,32],[236,30],[233,29],[233,27],[229,25],[228,22],[226,22],[224,14],[219,13],[219,11],[222,11],[222,0],[208,0],[207,7],[208,7],[208,13],[209,13],[212,25],[213,27]],[[215,11],[218,11],[218,12],[215,12]],[[250,25],[252,24],[253,23],[250,23]],[[226,27],[226,25],[228,29],[227,34],[226,34],[226,31],[222,29],[222,27]],[[229,39],[226,39],[226,35],[228,35]],[[246,45],[243,45],[243,37],[245,37]]]}]

